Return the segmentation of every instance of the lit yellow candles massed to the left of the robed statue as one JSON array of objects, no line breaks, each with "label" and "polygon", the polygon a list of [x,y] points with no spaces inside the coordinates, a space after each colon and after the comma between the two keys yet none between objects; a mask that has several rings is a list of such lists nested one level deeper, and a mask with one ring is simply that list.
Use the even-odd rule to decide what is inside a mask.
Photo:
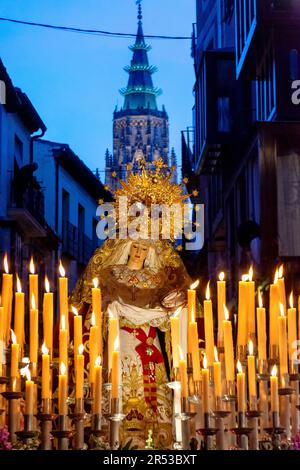
[{"label": "lit yellow candles massed to the left of the robed statue", "polygon": [[[7,257],[4,258],[5,273],[2,278],[2,306],[0,306],[0,341],[7,345],[10,339],[11,313],[13,300],[13,275],[9,273]],[[60,414],[65,414],[68,394],[68,363],[69,363],[69,307],[68,307],[68,279],[60,263],[59,266],[59,305],[60,305],[60,328],[59,328],[59,386],[58,403]],[[36,377],[39,348],[39,310],[38,310],[38,275],[34,272],[33,260],[30,262],[29,295],[31,296],[31,308],[29,313],[29,362],[30,370],[25,368],[23,372]],[[44,343],[42,352],[42,399],[52,397],[52,373],[50,363],[53,360],[53,315],[54,298],[50,292],[50,284],[45,279],[43,297],[43,334]],[[84,355],[82,345],[82,316],[76,308],[72,307],[74,313],[73,344],[74,344],[74,366],[75,366],[75,396],[82,399],[84,396]],[[93,279],[92,287],[92,316],[89,338],[89,383],[93,390],[95,413],[101,412],[102,398],[102,311],[101,290],[98,287],[98,279]],[[10,375],[13,390],[16,390],[19,378],[19,362],[24,352],[24,321],[25,321],[25,295],[21,289],[20,280],[17,277],[17,292],[15,293],[14,330],[11,330],[11,364]],[[115,318],[109,318],[109,362],[112,373],[112,397],[117,398],[119,393],[119,351],[118,349],[118,327]],[[7,330],[9,336],[7,339]],[[0,375],[3,373],[5,363],[4,354],[0,355]],[[31,403],[35,384],[31,377],[26,380],[26,401]],[[29,407],[31,409],[31,407]]]}]

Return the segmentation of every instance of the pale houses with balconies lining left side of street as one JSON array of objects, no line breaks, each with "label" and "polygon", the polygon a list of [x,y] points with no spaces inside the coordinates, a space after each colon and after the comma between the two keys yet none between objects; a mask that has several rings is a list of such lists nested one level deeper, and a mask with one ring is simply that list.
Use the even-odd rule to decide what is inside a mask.
[{"label": "pale houses with balconies lining left side of street", "polygon": [[62,259],[71,290],[101,243],[98,200],[111,196],[68,145],[42,140],[45,124],[1,61],[0,83],[1,263],[7,253],[26,292],[33,256],[40,279],[47,274],[55,291]]}]

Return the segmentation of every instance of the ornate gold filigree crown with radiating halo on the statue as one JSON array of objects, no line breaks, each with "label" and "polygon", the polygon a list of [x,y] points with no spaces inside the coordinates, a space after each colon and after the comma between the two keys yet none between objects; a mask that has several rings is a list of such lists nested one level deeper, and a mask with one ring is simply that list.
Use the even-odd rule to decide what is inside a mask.
[{"label": "ornate gold filigree crown with radiating halo on the statue", "polygon": [[127,181],[119,180],[119,187],[113,192],[116,231],[122,228],[127,209],[128,224],[134,221],[139,238],[171,241],[181,238],[189,219],[184,208],[190,194],[185,193],[184,184],[172,182],[173,175],[174,168],[159,158],[150,164],[140,160],[138,169],[130,173]]}]

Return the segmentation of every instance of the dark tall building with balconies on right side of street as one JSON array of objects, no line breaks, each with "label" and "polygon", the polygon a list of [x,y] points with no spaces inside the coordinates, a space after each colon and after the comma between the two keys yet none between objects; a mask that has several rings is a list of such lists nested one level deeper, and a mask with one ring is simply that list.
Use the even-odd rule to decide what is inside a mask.
[{"label": "dark tall building with balconies on right side of street", "polygon": [[195,106],[182,147],[183,173],[197,183],[205,204],[205,249],[194,268],[211,278],[226,271],[232,295],[251,264],[257,279],[271,280],[284,262],[296,282],[298,2],[196,4]]}]

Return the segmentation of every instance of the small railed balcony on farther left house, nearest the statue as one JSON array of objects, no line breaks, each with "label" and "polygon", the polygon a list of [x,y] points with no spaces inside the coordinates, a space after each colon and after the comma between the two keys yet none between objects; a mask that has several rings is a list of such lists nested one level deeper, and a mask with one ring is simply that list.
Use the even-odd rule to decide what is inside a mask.
[{"label": "small railed balcony on farther left house, nearest the statue", "polygon": [[63,222],[62,253],[80,264],[87,264],[95,246],[92,240],[71,222]]}]

